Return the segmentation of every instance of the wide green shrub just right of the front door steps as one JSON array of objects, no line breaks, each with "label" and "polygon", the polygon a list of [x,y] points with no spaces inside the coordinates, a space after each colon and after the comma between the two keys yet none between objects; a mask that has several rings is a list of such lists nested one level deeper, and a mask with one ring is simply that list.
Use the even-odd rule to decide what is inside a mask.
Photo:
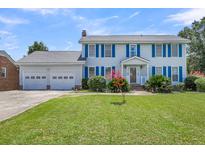
[{"label": "wide green shrub just right of the front door steps", "polygon": [[172,91],[172,86],[169,78],[162,75],[155,75],[146,81],[144,89],[151,92],[169,93]]}]

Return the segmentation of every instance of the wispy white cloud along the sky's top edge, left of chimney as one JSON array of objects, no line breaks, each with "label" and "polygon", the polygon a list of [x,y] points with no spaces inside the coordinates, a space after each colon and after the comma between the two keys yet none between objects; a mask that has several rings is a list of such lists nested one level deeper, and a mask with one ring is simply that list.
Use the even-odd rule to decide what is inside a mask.
[{"label": "wispy white cloud along the sky's top edge, left of chimney", "polygon": [[23,11],[34,12],[40,15],[57,15],[59,13],[59,9],[43,9],[43,8],[25,8]]}]

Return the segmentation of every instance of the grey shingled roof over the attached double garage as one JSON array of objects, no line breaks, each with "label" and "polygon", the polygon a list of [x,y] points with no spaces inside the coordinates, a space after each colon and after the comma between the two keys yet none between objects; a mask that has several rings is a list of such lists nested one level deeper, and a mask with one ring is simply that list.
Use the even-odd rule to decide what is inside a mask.
[{"label": "grey shingled roof over the attached double garage", "polygon": [[35,51],[18,60],[18,64],[78,64],[84,63],[80,51]]}]

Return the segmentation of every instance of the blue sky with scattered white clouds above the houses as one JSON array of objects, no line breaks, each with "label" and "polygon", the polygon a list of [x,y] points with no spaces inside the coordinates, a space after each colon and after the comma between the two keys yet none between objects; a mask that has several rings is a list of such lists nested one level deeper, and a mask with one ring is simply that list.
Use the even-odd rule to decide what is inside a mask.
[{"label": "blue sky with scattered white clouds above the houses", "polygon": [[88,35],[177,35],[205,16],[205,9],[0,9],[0,50],[14,60],[34,41],[49,50],[81,50]]}]

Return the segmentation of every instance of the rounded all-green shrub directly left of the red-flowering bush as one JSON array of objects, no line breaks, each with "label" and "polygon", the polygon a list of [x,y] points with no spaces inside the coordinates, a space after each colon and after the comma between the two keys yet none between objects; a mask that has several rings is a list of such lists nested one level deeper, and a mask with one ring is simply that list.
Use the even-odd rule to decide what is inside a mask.
[{"label": "rounded all-green shrub directly left of the red-flowering bush", "polygon": [[106,80],[102,76],[95,76],[88,80],[90,90],[102,92],[106,89]]}]

